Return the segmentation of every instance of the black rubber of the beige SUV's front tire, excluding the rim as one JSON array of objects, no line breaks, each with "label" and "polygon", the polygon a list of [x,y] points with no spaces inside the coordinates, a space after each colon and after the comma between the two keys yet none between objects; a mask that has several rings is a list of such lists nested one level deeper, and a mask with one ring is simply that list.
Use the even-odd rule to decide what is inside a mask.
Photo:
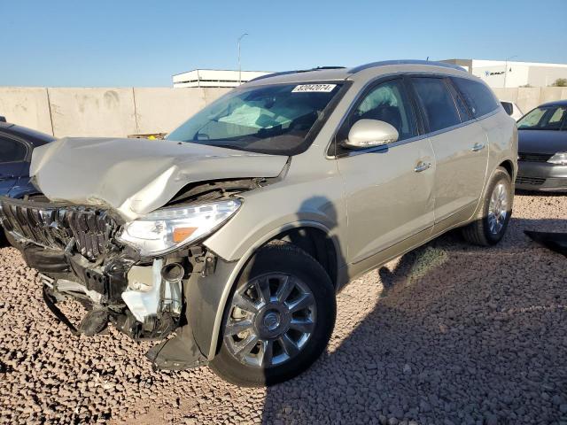
[{"label": "black rubber of the beige SUV's front tire, excluding the rim", "polygon": [[329,343],[335,326],[337,304],[329,274],[306,251],[291,243],[269,243],[248,262],[229,297],[221,332],[228,320],[235,291],[263,274],[291,274],[305,283],[315,298],[315,328],[299,354],[273,367],[252,367],[241,363],[220,337],[220,350],[210,363],[216,375],[229,383],[259,387],[282,383],[305,371],[318,359]]}]

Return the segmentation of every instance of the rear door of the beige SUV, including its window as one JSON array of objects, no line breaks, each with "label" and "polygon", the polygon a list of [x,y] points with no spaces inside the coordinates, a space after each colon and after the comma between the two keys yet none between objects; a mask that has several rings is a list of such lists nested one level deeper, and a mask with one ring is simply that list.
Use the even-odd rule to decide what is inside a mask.
[{"label": "rear door of the beige SUV, including its window", "polygon": [[446,77],[415,76],[411,81],[437,162],[435,222],[450,226],[466,220],[478,205],[488,164],[487,137]]}]

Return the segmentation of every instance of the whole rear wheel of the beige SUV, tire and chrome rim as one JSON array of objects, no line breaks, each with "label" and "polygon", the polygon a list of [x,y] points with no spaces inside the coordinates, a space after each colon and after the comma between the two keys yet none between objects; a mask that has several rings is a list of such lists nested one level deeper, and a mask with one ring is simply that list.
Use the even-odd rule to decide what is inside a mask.
[{"label": "whole rear wheel of the beige SUV, tire and chrome rim", "polygon": [[477,219],[462,228],[464,238],[481,246],[499,243],[508,228],[513,200],[510,176],[499,166],[488,183]]}]

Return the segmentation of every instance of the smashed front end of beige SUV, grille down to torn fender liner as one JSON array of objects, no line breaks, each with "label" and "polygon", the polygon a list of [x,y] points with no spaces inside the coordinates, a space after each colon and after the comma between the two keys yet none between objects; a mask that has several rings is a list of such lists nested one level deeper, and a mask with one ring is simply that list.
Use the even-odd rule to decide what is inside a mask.
[{"label": "smashed front end of beige SUV, grille down to torn fender liner", "polygon": [[[206,364],[218,299],[234,264],[200,246],[167,257],[136,258],[113,240],[105,213],[0,198],[0,221],[29,267],[40,272],[43,298],[73,333],[95,335],[108,323],[134,339],[161,340],[154,367]],[[73,324],[57,304],[74,298],[88,313]],[[197,328],[196,328],[197,327]],[[167,338],[172,332],[175,336]]]}]

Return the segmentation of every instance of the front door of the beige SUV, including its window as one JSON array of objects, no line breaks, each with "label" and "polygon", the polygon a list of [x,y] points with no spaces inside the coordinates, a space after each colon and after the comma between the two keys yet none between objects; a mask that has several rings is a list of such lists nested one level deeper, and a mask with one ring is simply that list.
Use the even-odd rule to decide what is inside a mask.
[{"label": "front door of the beige SUV, including its window", "polygon": [[[362,151],[340,148],[357,120],[383,120],[399,138]],[[435,158],[429,139],[417,135],[416,115],[401,79],[377,83],[338,132],[338,170],[345,182],[348,262],[359,263],[431,228]]]}]

